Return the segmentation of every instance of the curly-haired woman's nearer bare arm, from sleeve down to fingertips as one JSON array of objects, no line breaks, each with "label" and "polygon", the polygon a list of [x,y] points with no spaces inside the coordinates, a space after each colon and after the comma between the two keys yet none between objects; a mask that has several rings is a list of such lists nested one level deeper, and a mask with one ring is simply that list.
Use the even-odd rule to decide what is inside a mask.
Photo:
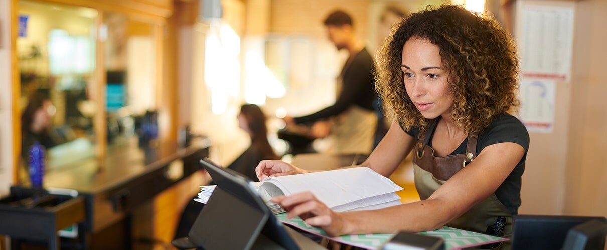
[{"label": "curly-haired woman's nearer bare arm, from sleeve down to fingertips", "polygon": [[487,146],[428,200],[375,211],[333,212],[309,192],[277,197],[273,202],[285,207],[289,217],[302,217],[308,225],[334,236],[429,231],[456,219],[493,194],[523,155],[523,147],[515,143]]}]

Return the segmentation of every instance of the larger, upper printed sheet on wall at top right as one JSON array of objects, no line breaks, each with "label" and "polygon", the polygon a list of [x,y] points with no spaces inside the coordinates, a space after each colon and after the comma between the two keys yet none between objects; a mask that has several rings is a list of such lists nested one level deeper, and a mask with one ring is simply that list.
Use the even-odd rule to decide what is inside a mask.
[{"label": "larger, upper printed sheet on wall at top right", "polygon": [[517,4],[521,77],[568,82],[575,3],[518,1]]}]

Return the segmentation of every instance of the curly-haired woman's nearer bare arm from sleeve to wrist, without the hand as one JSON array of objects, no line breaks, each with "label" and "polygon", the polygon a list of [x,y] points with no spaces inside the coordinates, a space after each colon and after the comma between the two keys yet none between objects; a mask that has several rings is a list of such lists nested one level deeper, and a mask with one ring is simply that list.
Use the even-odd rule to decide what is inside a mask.
[{"label": "curly-haired woman's nearer bare arm from sleeve to wrist, without the hand", "polygon": [[523,156],[523,147],[516,143],[487,146],[427,200],[378,211],[340,214],[343,231],[339,234],[420,232],[440,228],[493,194]]}]

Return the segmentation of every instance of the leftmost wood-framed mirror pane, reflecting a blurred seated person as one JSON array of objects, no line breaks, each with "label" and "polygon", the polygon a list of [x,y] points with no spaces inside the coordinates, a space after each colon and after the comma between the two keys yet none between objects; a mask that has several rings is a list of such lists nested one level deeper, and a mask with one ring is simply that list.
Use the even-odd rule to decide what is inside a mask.
[{"label": "leftmost wood-framed mirror pane, reflecting a blurred seated person", "polygon": [[72,142],[90,150],[95,134],[87,107],[94,101],[90,90],[98,12],[34,1],[18,4],[21,157],[27,163],[35,142],[47,151]]}]

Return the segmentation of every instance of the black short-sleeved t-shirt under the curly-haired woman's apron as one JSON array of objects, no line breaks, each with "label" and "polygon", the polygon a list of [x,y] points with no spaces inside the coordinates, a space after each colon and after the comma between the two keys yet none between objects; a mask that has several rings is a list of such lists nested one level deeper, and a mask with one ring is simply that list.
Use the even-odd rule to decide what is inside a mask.
[{"label": "black short-sleeved t-shirt under the curly-haired woman's apron", "polygon": [[[417,139],[419,128],[412,128],[412,130],[405,131],[405,133]],[[527,151],[529,150],[529,133],[527,133],[527,128],[525,128],[523,123],[516,117],[506,113],[500,114],[493,119],[489,127],[484,128],[478,135],[476,155],[478,156],[478,154],[483,151],[483,148],[486,148],[487,146],[504,142],[517,143],[525,150],[523,159],[518,162],[517,166],[512,170],[512,173],[510,173],[506,180],[504,180],[500,187],[495,191],[497,199],[514,215],[518,214],[518,208],[521,206],[521,176],[523,176],[525,170],[525,160],[527,159]],[[430,140],[429,146],[432,146],[431,143],[432,140]],[[449,155],[466,154],[467,143],[468,139],[466,138],[466,140]]]}]

